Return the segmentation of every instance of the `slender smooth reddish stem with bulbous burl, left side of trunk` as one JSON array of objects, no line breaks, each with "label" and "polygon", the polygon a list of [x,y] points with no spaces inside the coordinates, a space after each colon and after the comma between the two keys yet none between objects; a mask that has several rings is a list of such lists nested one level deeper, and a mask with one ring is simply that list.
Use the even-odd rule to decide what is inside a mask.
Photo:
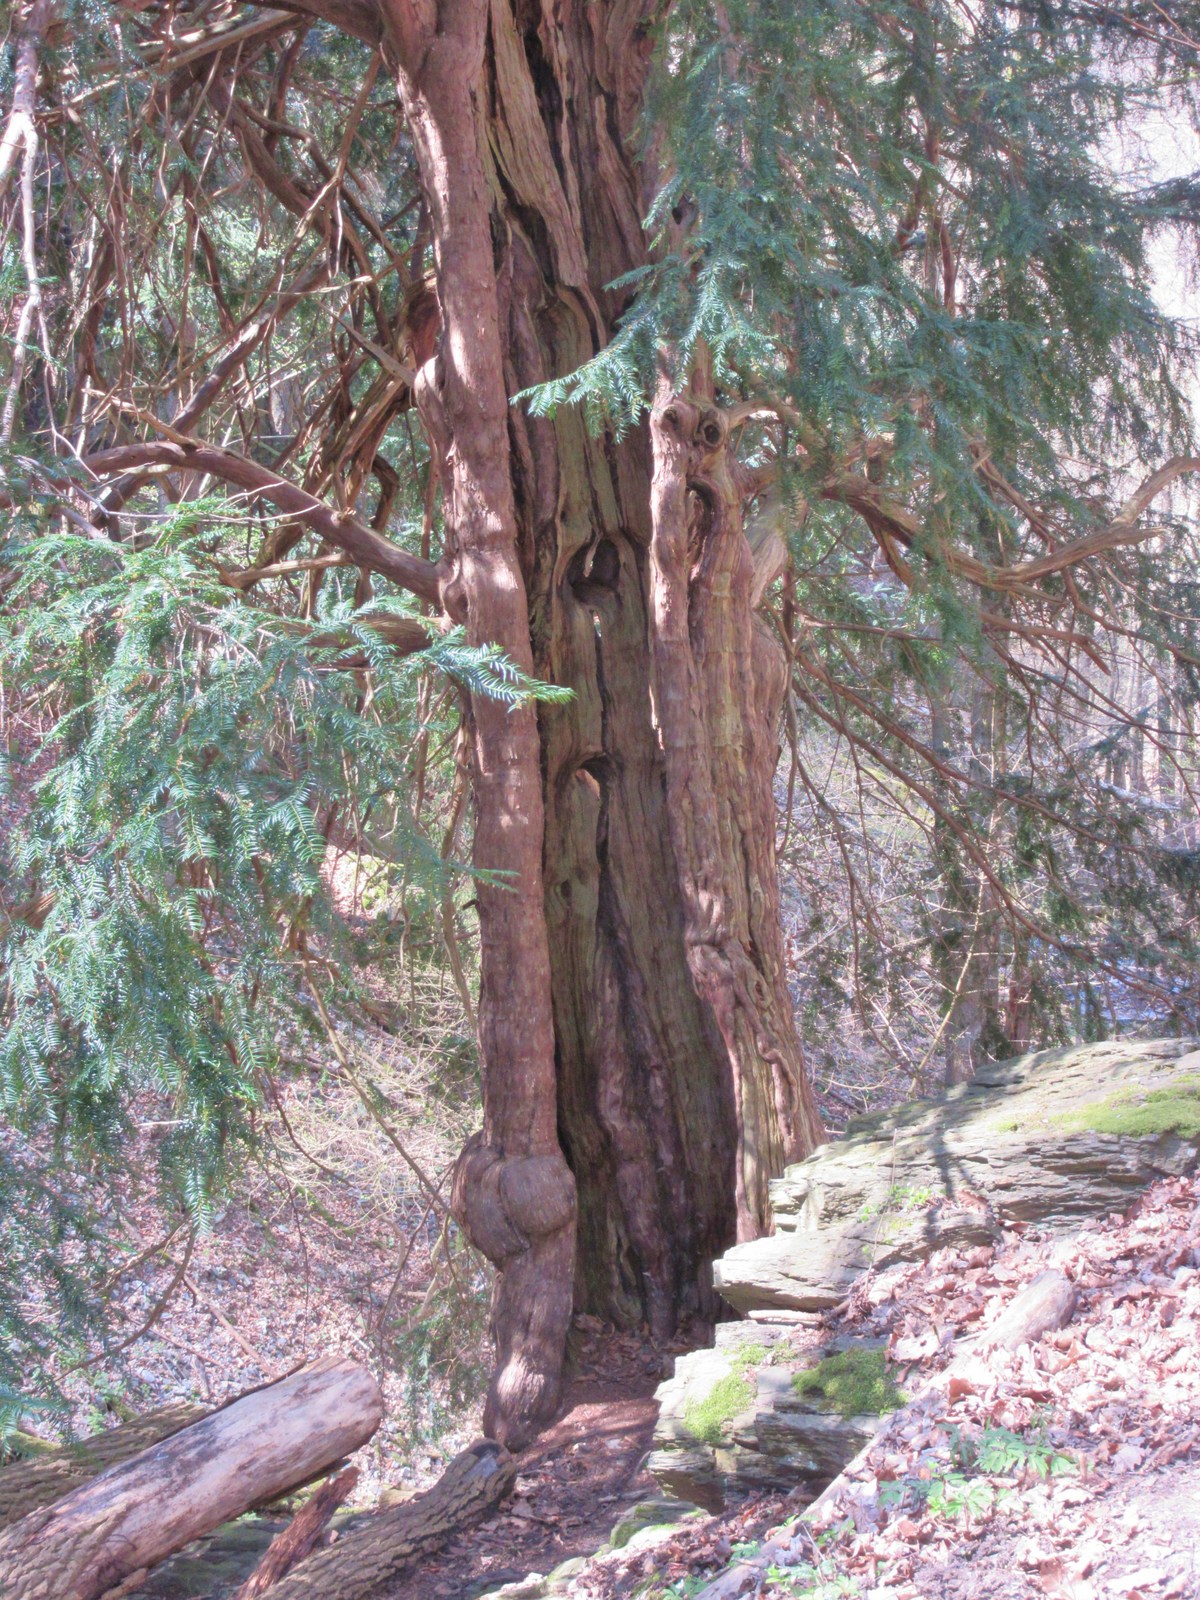
[{"label": "slender smooth reddish stem with bulbous burl, left side of trunk", "polygon": [[[454,589],[470,643],[499,643],[531,672],[485,173],[488,3],[387,0],[384,19],[434,232],[443,334],[418,378],[418,405],[446,462]],[[483,1133],[459,1163],[454,1213],[499,1269],[483,1427],[517,1448],[558,1405],[574,1181],[557,1136],[538,717],[531,706],[474,696],[470,730],[474,861],[502,883],[493,877],[477,891]]]}]

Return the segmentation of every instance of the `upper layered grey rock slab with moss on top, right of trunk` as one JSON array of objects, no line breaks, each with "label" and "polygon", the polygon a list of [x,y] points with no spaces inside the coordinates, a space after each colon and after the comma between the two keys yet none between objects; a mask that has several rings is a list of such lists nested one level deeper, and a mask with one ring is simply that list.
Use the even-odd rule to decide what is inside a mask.
[{"label": "upper layered grey rock slab with moss on top, right of trunk", "polygon": [[774,1235],[736,1245],[714,1282],[738,1310],[824,1310],[870,1266],[970,1248],[1013,1222],[1123,1210],[1200,1157],[1197,1040],[1046,1050],[938,1099],[858,1117],[771,1186]]}]

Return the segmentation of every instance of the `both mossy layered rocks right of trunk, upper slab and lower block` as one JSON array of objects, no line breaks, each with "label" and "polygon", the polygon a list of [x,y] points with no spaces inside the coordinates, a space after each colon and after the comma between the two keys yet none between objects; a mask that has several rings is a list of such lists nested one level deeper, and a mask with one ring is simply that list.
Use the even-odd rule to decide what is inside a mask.
[{"label": "both mossy layered rocks right of trunk, upper slab and lower block", "polygon": [[[997,1243],[1014,1222],[1070,1230],[1197,1162],[1200,1048],[1187,1038],[1032,1053],[856,1118],[773,1184],[776,1232],[715,1262],[725,1299],[768,1320],[723,1323],[715,1349],[675,1363],[646,1466],[669,1493],[714,1510],[730,1494],[818,1493],[896,1392],[878,1346],[805,1349],[811,1334],[798,1339],[787,1314],[830,1309],[870,1267]],[[858,1354],[830,1363],[843,1352]]]}]

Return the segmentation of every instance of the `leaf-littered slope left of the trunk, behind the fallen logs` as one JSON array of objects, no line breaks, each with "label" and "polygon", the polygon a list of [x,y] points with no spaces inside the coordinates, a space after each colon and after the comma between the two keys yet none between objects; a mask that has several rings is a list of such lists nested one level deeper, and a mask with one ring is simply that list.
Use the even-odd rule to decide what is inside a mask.
[{"label": "leaf-littered slope left of the trunk, behind the fallen logs", "polygon": [[262,1120],[262,1158],[190,1240],[139,1181],[163,1117],[149,1099],[139,1109],[128,1174],[93,1194],[114,1242],[114,1331],[110,1354],[90,1347],[88,1365],[56,1373],[70,1432],[178,1400],[222,1405],[334,1352],[376,1374],[387,1406],[355,1458],[357,1506],[427,1486],[477,1435],[488,1280],[446,1208],[474,1085],[456,1101],[381,1030],[358,1042],[354,1066],[371,1109],[336,1064],[294,1074]]}]

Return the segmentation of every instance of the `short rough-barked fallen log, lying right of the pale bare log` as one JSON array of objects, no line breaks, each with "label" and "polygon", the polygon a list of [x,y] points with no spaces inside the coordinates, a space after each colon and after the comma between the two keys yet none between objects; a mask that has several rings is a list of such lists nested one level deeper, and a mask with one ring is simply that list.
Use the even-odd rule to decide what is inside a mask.
[{"label": "short rough-barked fallen log, lying right of the pale bare log", "polygon": [[454,1456],[426,1494],[373,1512],[336,1544],[301,1562],[269,1590],[269,1600],[370,1600],[414,1560],[493,1512],[515,1474],[501,1445],[480,1440]]}]

